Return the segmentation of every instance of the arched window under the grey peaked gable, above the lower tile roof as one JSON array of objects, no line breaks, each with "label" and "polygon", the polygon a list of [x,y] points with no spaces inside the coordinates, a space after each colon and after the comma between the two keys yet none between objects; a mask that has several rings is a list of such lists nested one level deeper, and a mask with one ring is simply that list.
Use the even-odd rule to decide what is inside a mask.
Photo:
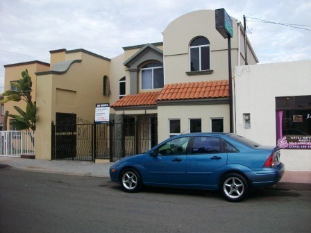
[{"label": "arched window under the grey peaked gable, above the lower tile roof", "polygon": [[164,86],[163,64],[151,62],[140,70],[141,89],[156,89]]}]

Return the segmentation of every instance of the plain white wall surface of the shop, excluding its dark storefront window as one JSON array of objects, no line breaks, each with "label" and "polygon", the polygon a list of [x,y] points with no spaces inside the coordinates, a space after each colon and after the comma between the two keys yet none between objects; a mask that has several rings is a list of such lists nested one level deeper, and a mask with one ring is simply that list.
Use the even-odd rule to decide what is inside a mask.
[{"label": "plain white wall surface of the shop, excluding its dark storefront window", "polygon": [[[276,96],[311,95],[311,60],[235,67],[235,132],[276,145]],[[243,114],[251,114],[244,128]],[[288,171],[311,171],[311,150],[282,150]]]}]

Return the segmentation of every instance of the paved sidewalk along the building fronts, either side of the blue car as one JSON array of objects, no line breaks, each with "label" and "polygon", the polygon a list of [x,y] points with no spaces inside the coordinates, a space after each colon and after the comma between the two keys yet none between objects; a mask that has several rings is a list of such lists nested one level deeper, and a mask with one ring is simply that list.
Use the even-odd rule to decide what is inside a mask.
[{"label": "paved sidewalk along the building fronts, either side of the blue car", "polygon": [[[22,159],[14,157],[0,157],[0,165],[12,166],[16,169],[61,173],[68,175],[86,175],[109,178],[109,168],[114,163],[95,164],[72,160],[42,160]],[[311,184],[311,171],[285,171],[280,180],[284,183]]]}]

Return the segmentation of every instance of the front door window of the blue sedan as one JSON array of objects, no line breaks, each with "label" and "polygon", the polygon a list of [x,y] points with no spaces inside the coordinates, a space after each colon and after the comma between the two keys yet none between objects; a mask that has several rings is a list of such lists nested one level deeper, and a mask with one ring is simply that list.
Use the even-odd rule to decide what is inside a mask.
[{"label": "front door window of the blue sedan", "polygon": [[171,139],[158,148],[158,155],[187,155],[190,137]]}]

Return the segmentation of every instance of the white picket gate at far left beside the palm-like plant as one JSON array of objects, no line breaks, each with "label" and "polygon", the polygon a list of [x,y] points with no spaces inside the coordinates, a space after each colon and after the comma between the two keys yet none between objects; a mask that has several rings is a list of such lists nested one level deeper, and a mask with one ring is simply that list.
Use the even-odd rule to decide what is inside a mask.
[{"label": "white picket gate at far left beside the palm-like plant", "polygon": [[28,130],[0,131],[0,156],[35,155],[35,132]]}]

